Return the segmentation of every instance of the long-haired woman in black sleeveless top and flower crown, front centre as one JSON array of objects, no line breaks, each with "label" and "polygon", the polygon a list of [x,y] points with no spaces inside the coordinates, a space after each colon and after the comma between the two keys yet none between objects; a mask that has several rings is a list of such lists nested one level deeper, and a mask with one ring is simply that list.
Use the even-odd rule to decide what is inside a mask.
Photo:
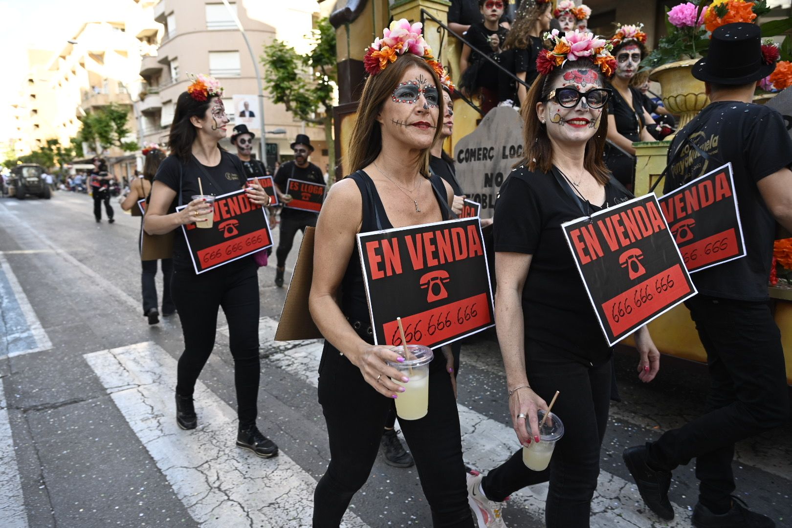
[{"label": "long-haired woman in black sleeveless top and flower crown, front centre", "polygon": [[[444,70],[432,59],[421,24],[392,22],[368,48],[364,65],[369,77],[345,158],[352,174],[333,185],[322,206],[314,249],[314,262],[322,265],[314,266],[309,298],[326,339],[318,398],[330,463],[314,492],[314,526],[322,527],[339,526],[366,482],[394,399],[418,390],[388,365],[404,358],[373,344],[356,234],[453,216],[451,187],[429,173],[429,151],[444,115],[438,77]],[[400,425],[433,526],[472,528],[452,367],[450,351],[435,355],[428,415]]]}]

